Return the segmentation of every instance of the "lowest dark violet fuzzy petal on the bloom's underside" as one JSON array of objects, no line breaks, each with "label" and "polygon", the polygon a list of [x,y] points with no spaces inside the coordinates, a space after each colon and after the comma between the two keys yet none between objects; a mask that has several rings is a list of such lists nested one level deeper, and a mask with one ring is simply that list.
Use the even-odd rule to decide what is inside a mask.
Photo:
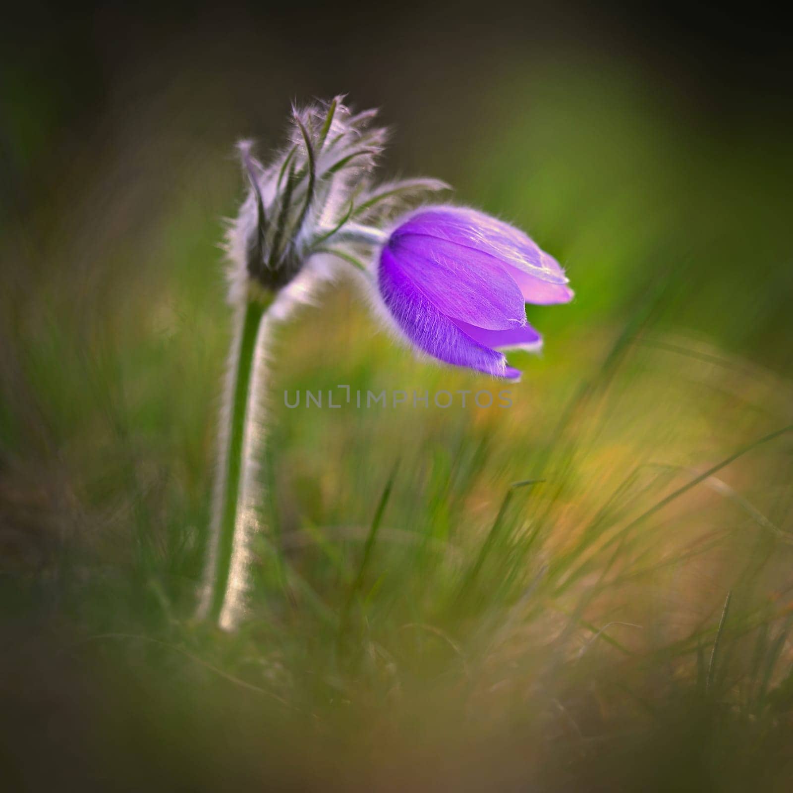
[{"label": "lowest dark violet fuzzy petal on the bloom's underside", "polygon": [[380,256],[378,282],[386,307],[400,330],[419,350],[454,366],[467,366],[495,377],[516,379],[504,355],[464,333],[405,274],[386,246]]}]

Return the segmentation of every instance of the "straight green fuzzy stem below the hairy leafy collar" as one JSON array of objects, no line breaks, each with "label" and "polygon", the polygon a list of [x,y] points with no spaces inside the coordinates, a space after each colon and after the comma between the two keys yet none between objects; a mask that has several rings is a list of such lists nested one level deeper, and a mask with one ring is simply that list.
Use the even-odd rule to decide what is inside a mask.
[{"label": "straight green fuzzy stem below the hairy leafy collar", "polygon": [[220,449],[213,516],[198,616],[232,630],[244,611],[251,536],[260,528],[261,487],[253,482],[261,459],[266,312],[271,301],[248,300],[237,316],[220,416]]}]

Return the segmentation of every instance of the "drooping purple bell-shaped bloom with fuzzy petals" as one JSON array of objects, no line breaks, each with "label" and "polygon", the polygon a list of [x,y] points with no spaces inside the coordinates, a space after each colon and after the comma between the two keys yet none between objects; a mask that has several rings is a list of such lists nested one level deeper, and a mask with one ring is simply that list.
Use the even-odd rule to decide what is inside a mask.
[{"label": "drooping purple bell-shaped bloom with fuzzy petals", "polygon": [[501,350],[537,351],[525,303],[567,303],[559,263],[523,232],[474,209],[420,209],[389,236],[377,282],[397,327],[420,351],[517,380]]}]

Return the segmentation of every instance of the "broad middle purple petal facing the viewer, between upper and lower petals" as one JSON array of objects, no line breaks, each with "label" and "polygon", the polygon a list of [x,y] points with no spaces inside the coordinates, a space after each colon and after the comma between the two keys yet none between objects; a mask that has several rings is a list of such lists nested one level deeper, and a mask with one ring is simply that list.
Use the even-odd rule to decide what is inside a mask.
[{"label": "broad middle purple petal facing the viewer, between upper and lower petals", "polygon": [[388,248],[393,266],[442,314],[491,330],[526,322],[518,285],[492,256],[416,235],[400,235]]}]

